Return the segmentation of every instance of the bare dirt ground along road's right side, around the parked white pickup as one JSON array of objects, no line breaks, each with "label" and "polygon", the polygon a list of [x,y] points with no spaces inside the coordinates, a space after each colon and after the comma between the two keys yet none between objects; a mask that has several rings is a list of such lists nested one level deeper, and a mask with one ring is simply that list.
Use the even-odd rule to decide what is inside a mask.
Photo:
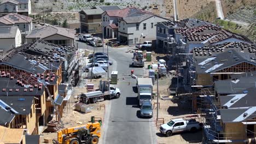
[{"label": "bare dirt ground along road's right side, around the parked white pickup", "polygon": [[[156,57],[159,55],[159,57],[164,58],[165,55],[161,55],[158,53],[153,53],[152,62],[146,62],[145,64],[151,64],[151,63],[157,63]],[[146,73],[148,70],[146,70]],[[145,74],[147,75],[147,74]],[[167,75],[166,77],[161,77],[159,79],[159,103],[160,103],[160,109],[159,109],[159,118],[164,118],[165,123],[170,121],[172,118],[182,118],[191,114],[191,106],[190,101],[188,97],[181,97],[177,99],[176,97],[173,97],[174,95],[168,94],[167,88],[170,86],[172,75]],[[153,87],[153,92],[157,93],[156,88],[156,81],[155,85]],[[171,100],[162,100],[161,97],[164,96],[170,96]],[[155,103],[155,105],[154,105]],[[153,99],[152,104],[154,105],[154,108],[156,108],[156,98]],[[156,109],[153,111],[154,119],[156,119]],[[197,119],[199,121],[199,119]],[[156,136],[159,143],[200,143],[202,140],[202,131],[197,131],[196,133],[178,133],[173,134],[171,137],[166,137],[165,135],[162,135],[159,131],[159,127],[156,127],[156,125],[153,125],[154,128],[157,129]]]}]

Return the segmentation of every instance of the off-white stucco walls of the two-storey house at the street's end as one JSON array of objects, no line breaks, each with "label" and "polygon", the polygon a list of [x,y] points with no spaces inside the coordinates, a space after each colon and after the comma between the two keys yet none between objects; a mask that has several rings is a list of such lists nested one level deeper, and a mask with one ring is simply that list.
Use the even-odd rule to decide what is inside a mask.
[{"label": "off-white stucco walls of the two-storey house at the street's end", "polygon": [[[128,39],[132,39],[133,43],[142,43],[145,39],[155,40],[156,39],[156,26],[154,26],[157,22],[167,21],[164,18],[153,16],[147,20],[139,23],[139,30],[136,30],[136,23],[126,23],[124,21],[120,21],[120,28],[118,31],[123,33],[133,33],[129,34]],[[146,29],[143,29],[143,23],[146,23]],[[153,28],[151,27],[151,23],[153,23]],[[142,35],[143,33],[143,35]],[[145,38],[143,38],[145,37]],[[138,39],[135,41],[135,38]],[[143,40],[143,41],[142,41]]]}]

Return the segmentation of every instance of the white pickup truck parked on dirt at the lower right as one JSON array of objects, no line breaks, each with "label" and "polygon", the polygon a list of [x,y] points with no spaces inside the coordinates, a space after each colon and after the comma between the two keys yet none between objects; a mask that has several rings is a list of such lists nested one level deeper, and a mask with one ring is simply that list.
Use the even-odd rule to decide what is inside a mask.
[{"label": "white pickup truck parked on dirt at the lower right", "polygon": [[170,122],[162,124],[160,132],[166,136],[171,136],[173,133],[179,133],[183,131],[196,131],[202,128],[202,123],[196,122],[195,119],[183,119],[176,118]]}]

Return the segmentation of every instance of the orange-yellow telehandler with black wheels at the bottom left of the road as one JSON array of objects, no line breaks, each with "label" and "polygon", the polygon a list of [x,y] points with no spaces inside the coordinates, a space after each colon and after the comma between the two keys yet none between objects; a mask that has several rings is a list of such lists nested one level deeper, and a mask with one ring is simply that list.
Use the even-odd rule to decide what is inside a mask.
[{"label": "orange-yellow telehandler with black wheels at the bottom left of the road", "polygon": [[77,127],[66,128],[57,133],[57,140],[54,144],[97,144],[101,136],[101,124],[99,122]]}]

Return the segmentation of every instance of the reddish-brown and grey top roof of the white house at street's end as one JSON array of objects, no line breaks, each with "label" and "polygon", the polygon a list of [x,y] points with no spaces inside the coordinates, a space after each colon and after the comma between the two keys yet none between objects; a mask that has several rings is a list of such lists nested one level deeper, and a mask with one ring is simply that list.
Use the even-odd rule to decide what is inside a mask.
[{"label": "reddish-brown and grey top roof of the white house at street's end", "polygon": [[116,16],[116,17],[127,17],[134,13],[152,14],[149,11],[138,9],[135,7],[125,8],[125,9],[120,9],[120,10],[106,10],[107,15]]}]

